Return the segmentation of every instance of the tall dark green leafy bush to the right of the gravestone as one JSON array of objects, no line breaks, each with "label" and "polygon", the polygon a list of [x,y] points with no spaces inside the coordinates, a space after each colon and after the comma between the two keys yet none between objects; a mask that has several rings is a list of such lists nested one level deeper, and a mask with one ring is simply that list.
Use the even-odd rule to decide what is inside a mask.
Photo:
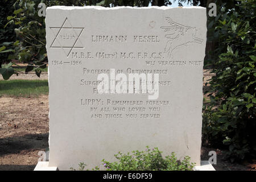
[{"label": "tall dark green leafy bush to the right of the gravestone", "polygon": [[221,7],[212,21],[216,59],[210,66],[210,104],[203,114],[203,136],[212,144],[228,146],[234,161],[255,157],[255,7],[256,1],[238,1],[231,10]]}]

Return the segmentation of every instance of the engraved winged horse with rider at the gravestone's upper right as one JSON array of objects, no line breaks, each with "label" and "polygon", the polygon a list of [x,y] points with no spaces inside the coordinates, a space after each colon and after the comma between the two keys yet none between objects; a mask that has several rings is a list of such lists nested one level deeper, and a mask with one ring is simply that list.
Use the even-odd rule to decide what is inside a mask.
[{"label": "engraved winged horse with rider at the gravestone's upper right", "polygon": [[201,44],[203,39],[197,38],[195,27],[184,26],[174,22],[171,18],[166,17],[170,24],[168,27],[160,27],[164,32],[168,32],[164,37],[168,39],[164,52],[168,53],[169,58],[173,58],[172,52],[179,46],[187,46],[187,43]]}]

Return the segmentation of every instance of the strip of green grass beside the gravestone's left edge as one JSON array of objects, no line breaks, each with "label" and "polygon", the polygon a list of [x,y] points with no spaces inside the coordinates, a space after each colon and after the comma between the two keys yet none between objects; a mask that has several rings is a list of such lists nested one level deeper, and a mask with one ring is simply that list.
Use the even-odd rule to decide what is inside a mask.
[{"label": "strip of green grass beside the gravestone's left edge", "polygon": [[48,93],[48,80],[0,80],[0,96],[30,97]]}]

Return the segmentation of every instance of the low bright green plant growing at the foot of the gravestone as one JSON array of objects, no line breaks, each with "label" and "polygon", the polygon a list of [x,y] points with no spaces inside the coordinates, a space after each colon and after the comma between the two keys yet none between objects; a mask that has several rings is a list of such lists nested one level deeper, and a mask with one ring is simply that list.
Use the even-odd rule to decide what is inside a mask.
[{"label": "low bright green plant growing at the foot of the gravestone", "polygon": [[[131,154],[114,155],[118,162],[108,162],[102,160],[102,166],[107,171],[191,171],[195,167],[195,163],[190,163],[189,156],[185,156],[183,160],[177,160],[175,153],[165,158],[161,155],[162,152],[157,147],[150,149],[148,146],[145,151],[133,151]],[[79,170],[83,170],[86,164],[80,163]],[[71,170],[75,170],[71,168]],[[93,170],[100,170],[95,167]]]}]

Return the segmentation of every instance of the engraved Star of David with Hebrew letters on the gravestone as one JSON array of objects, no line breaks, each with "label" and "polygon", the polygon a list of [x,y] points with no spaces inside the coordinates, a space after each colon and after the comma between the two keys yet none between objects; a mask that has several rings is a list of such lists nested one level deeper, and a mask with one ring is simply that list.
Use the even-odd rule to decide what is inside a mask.
[{"label": "engraved Star of David with Hebrew letters on the gravestone", "polygon": [[61,27],[49,27],[55,35],[50,48],[61,48],[68,57],[73,48],[84,48],[79,39],[84,28],[73,27],[68,18],[64,20]]}]

